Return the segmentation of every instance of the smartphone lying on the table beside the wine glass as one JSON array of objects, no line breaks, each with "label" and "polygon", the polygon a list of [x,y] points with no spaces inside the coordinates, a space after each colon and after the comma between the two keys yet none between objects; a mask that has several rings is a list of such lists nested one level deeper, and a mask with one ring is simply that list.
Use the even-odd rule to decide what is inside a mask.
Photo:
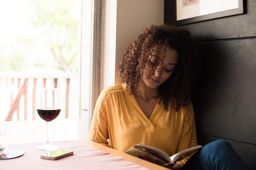
[{"label": "smartphone lying on the table beside the wine glass", "polygon": [[56,160],[56,159],[60,159],[69,155],[73,155],[73,151],[72,150],[63,150],[63,149],[58,149],[58,150],[54,150],[48,153],[44,153],[42,155],[40,155],[40,158],[42,159],[51,159],[51,160]]}]

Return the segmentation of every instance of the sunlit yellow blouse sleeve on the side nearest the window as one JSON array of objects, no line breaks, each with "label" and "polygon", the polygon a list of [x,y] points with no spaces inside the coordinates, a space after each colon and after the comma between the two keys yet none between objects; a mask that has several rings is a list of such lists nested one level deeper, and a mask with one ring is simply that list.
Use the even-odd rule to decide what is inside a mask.
[{"label": "sunlit yellow blouse sleeve on the side nearest the window", "polygon": [[106,111],[106,90],[103,90],[97,99],[88,139],[105,146],[108,145],[108,118]]}]

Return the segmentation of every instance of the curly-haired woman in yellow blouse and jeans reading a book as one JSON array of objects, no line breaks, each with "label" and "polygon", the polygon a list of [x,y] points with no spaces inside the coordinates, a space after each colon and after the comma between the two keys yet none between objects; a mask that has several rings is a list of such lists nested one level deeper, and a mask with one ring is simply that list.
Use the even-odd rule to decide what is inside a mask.
[{"label": "curly-haired woman in yellow blouse and jeans reading a book", "polygon": [[[120,63],[122,83],[101,92],[88,138],[122,152],[143,143],[171,156],[197,145],[191,97],[198,59],[185,28],[163,25],[143,31]],[[209,145],[226,143],[221,140]],[[181,169],[185,164],[189,169],[188,159],[200,159],[204,155],[197,155],[204,150],[207,146],[169,168]],[[191,164],[198,164],[195,162]],[[245,166],[243,161],[241,165]]]}]

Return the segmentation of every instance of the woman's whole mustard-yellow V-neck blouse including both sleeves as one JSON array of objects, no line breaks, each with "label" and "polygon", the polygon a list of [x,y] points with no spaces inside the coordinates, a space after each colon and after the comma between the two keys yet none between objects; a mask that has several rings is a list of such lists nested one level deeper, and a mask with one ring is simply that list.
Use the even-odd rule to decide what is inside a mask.
[{"label": "woman's whole mustard-yellow V-neck blouse including both sleeves", "polygon": [[[176,112],[170,104],[166,111],[157,102],[148,119],[126,84],[108,87],[97,100],[88,139],[122,152],[147,144],[171,156],[197,145],[193,106]],[[177,163],[183,166],[186,160]]]}]

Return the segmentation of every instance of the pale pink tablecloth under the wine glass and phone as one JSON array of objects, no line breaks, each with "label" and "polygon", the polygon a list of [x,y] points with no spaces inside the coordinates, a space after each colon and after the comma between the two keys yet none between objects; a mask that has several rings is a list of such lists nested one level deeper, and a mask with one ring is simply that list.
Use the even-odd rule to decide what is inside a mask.
[{"label": "pale pink tablecloth under the wine glass and phone", "polygon": [[0,160],[1,170],[148,170],[135,163],[115,157],[109,153],[97,150],[76,141],[59,141],[52,144],[61,149],[74,151],[74,155],[58,160],[41,159],[40,154],[45,150],[38,150],[36,146],[43,143],[13,144],[10,148],[24,151],[24,155],[13,159]]}]

